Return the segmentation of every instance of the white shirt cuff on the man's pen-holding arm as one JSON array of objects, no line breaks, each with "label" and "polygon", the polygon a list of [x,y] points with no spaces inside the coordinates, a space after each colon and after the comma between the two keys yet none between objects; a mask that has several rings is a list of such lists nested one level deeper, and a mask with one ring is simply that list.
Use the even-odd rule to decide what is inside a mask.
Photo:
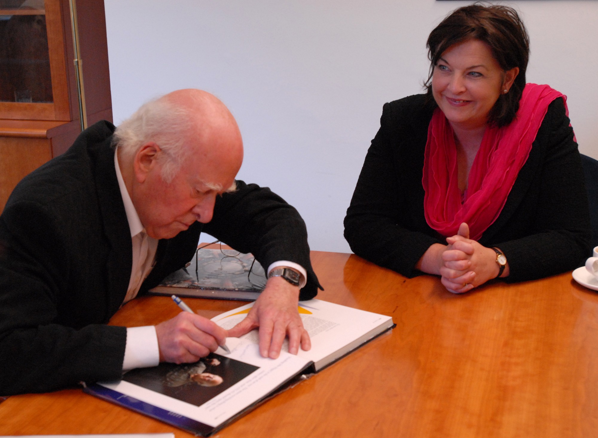
[{"label": "white shirt cuff on the man's pen-holding arm", "polygon": [[158,349],[158,336],[155,334],[155,327],[127,327],[123,371],[157,366],[158,363],[160,363],[160,350]]}]

